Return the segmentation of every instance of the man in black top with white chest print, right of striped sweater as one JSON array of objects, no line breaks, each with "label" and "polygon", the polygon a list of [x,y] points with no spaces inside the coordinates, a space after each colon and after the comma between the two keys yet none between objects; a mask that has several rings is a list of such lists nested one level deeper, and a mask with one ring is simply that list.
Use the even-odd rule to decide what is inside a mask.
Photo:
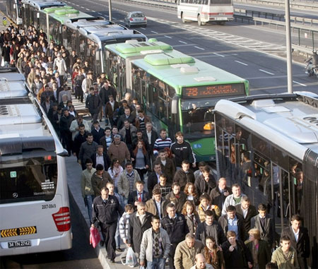
[{"label": "man in black top with white chest print, right of striped sweater", "polygon": [[196,161],[194,160],[191,145],[184,141],[183,133],[177,132],[175,138],[177,139],[177,142],[172,143],[170,150],[175,157],[176,167],[181,167],[183,160],[188,160],[192,163],[192,167],[196,167]]}]

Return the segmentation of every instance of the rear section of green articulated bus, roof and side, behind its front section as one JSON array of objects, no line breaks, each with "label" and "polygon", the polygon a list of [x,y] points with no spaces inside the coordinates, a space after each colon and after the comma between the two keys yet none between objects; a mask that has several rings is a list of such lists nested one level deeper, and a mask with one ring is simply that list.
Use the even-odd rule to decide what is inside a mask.
[{"label": "rear section of green articulated bus, roof and side, behind its front section", "polygon": [[127,40],[125,43],[108,44],[106,46],[107,77],[115,85],[119,97],[123,98],[125,92],[132,92],[131,64],[133,59],[141,59],[148,54],[171,52],[172,46],[160,42],[155,38],[147,42]]}]

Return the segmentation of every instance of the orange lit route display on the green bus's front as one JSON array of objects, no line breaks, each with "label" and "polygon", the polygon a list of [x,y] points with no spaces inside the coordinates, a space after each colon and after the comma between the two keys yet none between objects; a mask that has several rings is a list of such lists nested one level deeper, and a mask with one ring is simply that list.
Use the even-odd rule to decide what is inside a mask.
[{"label": "orange lit route display on the green bus's front", "polygon": [[220,97],[229,95],[245,95],[244,83],[207,85],[198,87],[187,87],[182,89],[184,99]]}]

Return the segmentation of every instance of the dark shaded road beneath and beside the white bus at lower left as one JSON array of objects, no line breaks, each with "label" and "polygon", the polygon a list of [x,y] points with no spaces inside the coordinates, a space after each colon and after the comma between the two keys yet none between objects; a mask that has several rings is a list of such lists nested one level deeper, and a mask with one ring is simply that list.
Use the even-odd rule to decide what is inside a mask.
[{"label": "dark shaded road beneath and beside the white bus at lower left", "polygon": [[[88,268],[100,269],[100,261],[92,246],[88,244],[89,234],[83,233],[83,222],[78,218],[74,201],[70,199],[73,248],[66,251],[55,251],[19,256],[0,257],[0,268]],[[87,228],[86,228],[87,229]]]}]

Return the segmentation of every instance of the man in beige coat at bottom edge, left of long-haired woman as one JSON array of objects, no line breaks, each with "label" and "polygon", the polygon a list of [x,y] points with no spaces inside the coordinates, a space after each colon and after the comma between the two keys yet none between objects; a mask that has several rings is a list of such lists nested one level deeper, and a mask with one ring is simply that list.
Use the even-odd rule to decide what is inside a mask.
[{"label": "man in beige coat at bottom edge, left of long-haired woman", "polygon": [[175,249],[175,269],[190,269],[195,264],[196,254],[203,253],[204,244],[194,239],[193,234],[187,234]]}]

